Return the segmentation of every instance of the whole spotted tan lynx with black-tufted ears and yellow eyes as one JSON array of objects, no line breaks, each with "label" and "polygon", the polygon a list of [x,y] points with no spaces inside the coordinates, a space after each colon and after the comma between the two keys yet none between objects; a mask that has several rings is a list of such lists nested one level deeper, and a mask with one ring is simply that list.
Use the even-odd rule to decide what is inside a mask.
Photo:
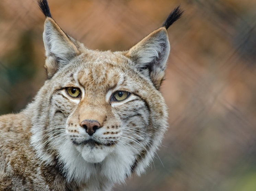
[{"label": "whole spotted tan lynx with black-tufted ears and yellow eyes", "polygon": [[128,51],[96,51],[44,13],[47,80],[32,103],[0,117],[0,190],[108,191],[150,165],[167,129],[159,91],[170,52],[163,26]]}]

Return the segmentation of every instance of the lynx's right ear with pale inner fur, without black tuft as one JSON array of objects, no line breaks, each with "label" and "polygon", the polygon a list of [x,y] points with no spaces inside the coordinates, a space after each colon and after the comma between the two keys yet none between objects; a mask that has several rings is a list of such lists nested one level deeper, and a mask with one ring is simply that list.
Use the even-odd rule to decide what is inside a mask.
[{"label": "lynx's right ear with pale inner fur, without black tuft", "polygon": [[164,79],[169,52],[167,30],[161,27],[133,46],[126,56],[135,63],[141,73],[150,78],[156,89],[159,89]]}]

